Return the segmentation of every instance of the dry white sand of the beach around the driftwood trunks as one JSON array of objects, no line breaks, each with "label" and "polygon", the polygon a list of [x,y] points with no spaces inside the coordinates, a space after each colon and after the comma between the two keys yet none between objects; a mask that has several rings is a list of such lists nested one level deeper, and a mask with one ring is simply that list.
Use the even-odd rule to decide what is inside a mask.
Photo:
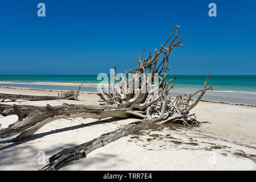
[{"label": "dry white sand of the beach around the driftwood trunks", "polygon": [[[55,90],[0,87],[0,93],[53,95]],[[82,92],[80,101],[18,101],[15,104],[98,104],[95,93]],[[6,102],[5,104],[14,104]],[[256,107],[200,102],[192,112],[200,127],[153,125],[92,151],[61,170],[256,170]],[[7,127],[17,116],[0,117]],[[59,119],[38,130],[30,139],[8,143],[0,140],[0,170],[38,170],[39,151],[46,159],[64,148],[99,137],[136,121]],[[47,163],[47,162],[46,162]]]}]

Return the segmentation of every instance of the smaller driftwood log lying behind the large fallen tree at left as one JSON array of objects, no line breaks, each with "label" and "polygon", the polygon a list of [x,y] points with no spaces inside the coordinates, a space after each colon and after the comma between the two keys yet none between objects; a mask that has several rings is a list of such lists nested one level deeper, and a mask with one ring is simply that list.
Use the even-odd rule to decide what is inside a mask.
[{"label": "smaller driftwood log lying behind the large fallen tree at left", "polygon": [[28,101],[45,101],[45,100],[60,100],[60,99],[78,100],[81,86],[82,85],[79,86],[76,92],[73,90],[68,92],[59,92],[58,96],[30,96],[30,95],[22,95],[22,94],[0,93],[0,100],[1,102],[5,100],[11,100],[12,102],[16,100],[28,100]]}]

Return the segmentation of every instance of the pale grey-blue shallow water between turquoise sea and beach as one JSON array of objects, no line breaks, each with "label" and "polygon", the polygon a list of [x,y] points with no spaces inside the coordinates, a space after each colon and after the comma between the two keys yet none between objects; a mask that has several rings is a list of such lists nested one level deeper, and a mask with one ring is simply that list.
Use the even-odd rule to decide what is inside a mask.
[{"label": "pale grey-blue shallow water between turquoise sea and beach", "polygon": [[[31,89],[49,89],[49,90],[77,90],[79,83],[71,82],[12,82],[0,81],[0,87],[14,87],[14,88],[31,88]],[[213,86],[214,88],[214,86]],[[84,83],[81,88],[86,92],[97,92],[97,84]],[[174,89],[169,92],[169,96],[176,97],[178,94],[194,93],[197,88],[184,88],[174,85]],[[0,89],[1,93],[1,89]],[[202,100],[210,102],[225,102],[230,104],[242,105],[256,105],[256,93],[243,92],[233,90],[209,90],[205,93]]]}]

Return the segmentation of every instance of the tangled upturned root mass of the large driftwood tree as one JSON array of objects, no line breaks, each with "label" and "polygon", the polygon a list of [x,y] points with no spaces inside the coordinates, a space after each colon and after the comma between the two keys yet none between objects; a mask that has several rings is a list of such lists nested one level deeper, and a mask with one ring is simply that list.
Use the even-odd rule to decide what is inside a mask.
[{"label": "tangled upturned root mass of the large driftwood tree", "polygon": [[[125,72],[120,80],[116,79],[115,68],[113,82],[109,82],[108,88],[103,85],[102,91],[98,93],[101,101],[107,105],[129,108],[127,112],[130,114],[140,118],[156,119],[162,123],[181,121],[188,126],[200,123],[194,114],[189,114],[189,111],[198,104],[206,90],[212,90],[212,86],[206,87],[209,75],[206,77],[202,90],[193,94],[185,94],[186,98],[182,98],[182,95],[177,96],[174,100],[168,97],[170,89],[173,88],[171,82],[176,80],[174,77],[166,81],[170,52],[176,47],[184,47],[181,38],[185,34],[178,38],[178,28],[179,26],[174,28],[159,50],[155,49],[155,56],[152,56],[150,52],[149,56],[142,61],[143,51],[137,58],[137,68]],[[171,39],[172,37],[173,39]],[[132,74],[127,79],[129,73]],[[201,93],[200,96],[191,103],[192,98],[198,93]]]}]

